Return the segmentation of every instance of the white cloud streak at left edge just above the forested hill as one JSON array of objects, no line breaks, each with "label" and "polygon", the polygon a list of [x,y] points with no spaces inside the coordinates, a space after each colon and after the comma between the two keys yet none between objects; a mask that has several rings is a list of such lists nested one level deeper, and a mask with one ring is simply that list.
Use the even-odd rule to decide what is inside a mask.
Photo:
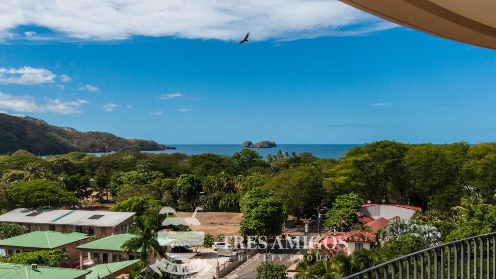
[{"label": "white cloud streak at left edge just above the forested hill", "polygon": [[77,99],[75,101],[63,101],[62,99],[43,99],[38,102],[30,95],[11,95],[0,92],[0,110],[29,113],[53,113],[74,114],[82,113],[81,105],[87,104],[87,100]]}]

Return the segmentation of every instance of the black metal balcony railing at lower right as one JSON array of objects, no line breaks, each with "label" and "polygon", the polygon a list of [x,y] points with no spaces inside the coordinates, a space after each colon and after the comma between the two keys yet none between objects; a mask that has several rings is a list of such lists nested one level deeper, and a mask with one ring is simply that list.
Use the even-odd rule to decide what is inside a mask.
[{"label": "black metal balcony railing at lower right", "polygon": [[424,249],[343,279],[496,279],[496,232]]}]

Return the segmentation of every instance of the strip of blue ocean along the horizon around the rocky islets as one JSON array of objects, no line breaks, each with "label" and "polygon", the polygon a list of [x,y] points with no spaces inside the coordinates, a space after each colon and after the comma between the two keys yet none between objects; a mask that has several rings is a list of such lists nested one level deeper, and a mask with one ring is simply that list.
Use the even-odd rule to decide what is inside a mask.
[{"label": "strip of blue ocean along the horizon around the rocky islets", "polygon": [[[159,150],[159,151],[143,151],[150,153],[185,153],[187,155],[197,155],[202,153],[214,153],[220,155],[233,155],[236,152],[243,150],[239,144],[169,144],[177,149]],[[253,148],[263,158],[267,154],[275,155],[279,150],[283,152],[295,152],[300,154],[303,152],[310,152],[315,157],[319,158],[339,158],[348,151],[350,148],[361,144],[278,144],[273,148]],[[102,155],[105,153],[94,153],[95,155]]]}]

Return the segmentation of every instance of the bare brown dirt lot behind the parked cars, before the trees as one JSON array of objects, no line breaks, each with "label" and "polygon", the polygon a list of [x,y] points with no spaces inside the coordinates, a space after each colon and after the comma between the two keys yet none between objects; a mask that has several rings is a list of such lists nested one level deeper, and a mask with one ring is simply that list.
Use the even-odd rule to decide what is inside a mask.
[{"label": "bare brown dirt lot behind the parked cars, before the trees", "polygon": [[[192,212],[178,211],[178,217],[191,217]],[[193,231],[203,231],[214,237],[219,234],[238,235],[240,230],[242,213],[236,212],[198,212],[196,218],[200,221],[199,226],[189,226]]]}]

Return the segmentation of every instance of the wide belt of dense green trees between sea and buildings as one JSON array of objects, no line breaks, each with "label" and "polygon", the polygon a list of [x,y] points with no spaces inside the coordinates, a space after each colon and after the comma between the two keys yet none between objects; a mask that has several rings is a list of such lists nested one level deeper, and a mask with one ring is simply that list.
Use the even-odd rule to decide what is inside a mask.
[{"label": "wide belt of dense green trees between sea and buildings", "polygon": [[[71,208],[83,199],[116,203],[113,210],[139,215],[140,225],[133,229],[140,237],[128,243],[129,251],[154,245],[150,239],[165,218],[158,213],[164,206],[241,211],[243,235],[268,236],[281,233],[288,214],[310,216],[318,206],[329,209],[324,225],[342,230],[368,229],[356,215],[366,201],[424,209],[409,221],[394,220],[379,231],[379,247],[352,257],[302,262],[299,274],[313,278],[325,271],[344,276],[440,242],[496,231],[495,174],[493,142],[377,141],[351,148],[340,159],[281,151],[262,158],[251,149],[232,156],[127,150],[100,157],[69,152],[43,159],[18,150],[0,156],[0,208]],[[6,235],[22,233],[22,228],[2,229]],[[205,239],[213,241],[210,235]]]}]

